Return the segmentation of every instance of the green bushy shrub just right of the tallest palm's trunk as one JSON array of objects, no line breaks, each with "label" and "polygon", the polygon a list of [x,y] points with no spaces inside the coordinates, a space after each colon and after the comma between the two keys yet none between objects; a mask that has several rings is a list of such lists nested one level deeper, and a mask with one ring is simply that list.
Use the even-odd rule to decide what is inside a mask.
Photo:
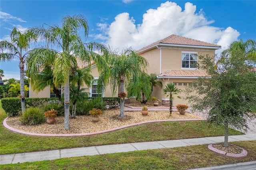
[{"label": "green bushy shrub just right of the tallest palm's trunk", "polygon": [[76,115],[89,115],[92,109],[106,109],[106,104],[102,102],[102,97],[92,97],[77,104]]}]

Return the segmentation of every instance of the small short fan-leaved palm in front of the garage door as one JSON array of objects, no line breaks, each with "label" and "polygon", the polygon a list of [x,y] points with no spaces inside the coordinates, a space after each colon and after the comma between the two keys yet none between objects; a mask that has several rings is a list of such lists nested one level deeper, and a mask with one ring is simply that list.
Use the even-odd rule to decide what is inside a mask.
[{"label": "small short fan-leaved palm in front of the garage door", "polygon": [[[181,89],[178,89],[175,87],[174,83],[168,83],[165,88],[163,89],[164,94],[166,97],[170,96],[170,116],[172,115],[172,101],[173,101],[173,95],[178,95],[178,93],[181,93]],[[179,99],[181,99],[180,96],[177,96]]]}]

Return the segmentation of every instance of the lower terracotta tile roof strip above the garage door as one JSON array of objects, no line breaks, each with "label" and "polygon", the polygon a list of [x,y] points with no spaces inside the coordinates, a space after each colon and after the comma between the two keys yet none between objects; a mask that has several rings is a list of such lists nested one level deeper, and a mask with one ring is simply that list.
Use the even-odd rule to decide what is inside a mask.
[{"label": "lower terracotta tile roof strip above the garage door", "polygon": [[209,75],[206,71],[198,71],[198,70],[168,70],[160,75],[161,77],[208,77]]}]

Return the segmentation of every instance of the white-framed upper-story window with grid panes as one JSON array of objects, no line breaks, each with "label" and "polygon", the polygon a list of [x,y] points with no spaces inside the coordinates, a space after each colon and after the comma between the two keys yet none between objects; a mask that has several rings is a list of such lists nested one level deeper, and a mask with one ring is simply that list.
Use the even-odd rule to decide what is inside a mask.
[{"label": "white-framed upper-story window with grid panes", "polygon": [[197,67],[197,53],[182,52],[182,68],[196,68]]}]

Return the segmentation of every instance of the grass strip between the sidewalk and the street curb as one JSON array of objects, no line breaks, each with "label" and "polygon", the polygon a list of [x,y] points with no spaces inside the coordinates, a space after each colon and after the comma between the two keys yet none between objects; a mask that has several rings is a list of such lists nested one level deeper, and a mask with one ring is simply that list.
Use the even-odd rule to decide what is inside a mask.
[{"label": "grass strip between the sidewalk and the street curb", "polygon": [[186,170],[256,160],[256,140],[230,143],[245,148],[248,151],[248,156],[245,158],[231,158],[216,154],[207,148],[207,144],[204,144],[7,164],[1,165],[0,168],[1,170]]}]

